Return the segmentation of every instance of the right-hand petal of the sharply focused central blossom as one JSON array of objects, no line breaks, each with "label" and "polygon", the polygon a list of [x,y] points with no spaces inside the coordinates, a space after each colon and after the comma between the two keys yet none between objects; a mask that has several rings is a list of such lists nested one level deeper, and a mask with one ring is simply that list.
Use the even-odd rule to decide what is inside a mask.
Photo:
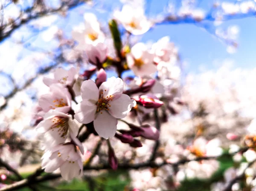
[{"label": "right-hand petal of the sharply focused central blossom", "polygon": [[111,107],[109,107],[109,113],[118,119],[126,117],[126,115],[131,111],[131,108],[136,105],[136,101],[131,100],[131,98],[122,94],[116,100],[109,102]]}]

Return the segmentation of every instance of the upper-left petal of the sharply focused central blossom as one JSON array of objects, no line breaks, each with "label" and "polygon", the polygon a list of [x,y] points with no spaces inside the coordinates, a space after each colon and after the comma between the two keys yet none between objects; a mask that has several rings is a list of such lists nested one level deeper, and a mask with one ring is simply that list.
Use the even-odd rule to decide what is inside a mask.
[{"label": "upper-left petal of the sharply focused central blossom", "polygon": [[81,86],[81,95],[83,100],[93,100],[96,103],[99,99],[99,88],[93,80],[85,80]]}]

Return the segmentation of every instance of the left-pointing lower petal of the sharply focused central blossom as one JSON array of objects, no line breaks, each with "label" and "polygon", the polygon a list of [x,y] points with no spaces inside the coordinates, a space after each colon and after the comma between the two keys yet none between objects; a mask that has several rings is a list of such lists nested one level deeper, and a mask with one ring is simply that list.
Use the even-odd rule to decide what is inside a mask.
[{"label": "left-pointing lower petal of the sharply focused central blossom", "polygon": [[95,118],[97,106],[88,100],[83,100],[81,103],[76,105],[75,108],[75,119],[80,123],[90,123]]}]

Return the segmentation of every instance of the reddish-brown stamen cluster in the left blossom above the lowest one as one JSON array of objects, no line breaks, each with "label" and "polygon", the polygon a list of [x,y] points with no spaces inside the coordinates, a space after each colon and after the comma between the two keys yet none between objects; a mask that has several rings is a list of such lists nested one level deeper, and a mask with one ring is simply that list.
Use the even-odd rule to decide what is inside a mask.
[{"label": "reddish-brown stamen cluster in the left blossom above the lowest one", "polygon": [[55,129],[58,129],[58,134],[65,138],[67,136],[67,131],[68,131],[68,118],[63,118],[63,117],[53,117],[52,118],[52,123],[53,125],[51,126],[52,131]]}]

